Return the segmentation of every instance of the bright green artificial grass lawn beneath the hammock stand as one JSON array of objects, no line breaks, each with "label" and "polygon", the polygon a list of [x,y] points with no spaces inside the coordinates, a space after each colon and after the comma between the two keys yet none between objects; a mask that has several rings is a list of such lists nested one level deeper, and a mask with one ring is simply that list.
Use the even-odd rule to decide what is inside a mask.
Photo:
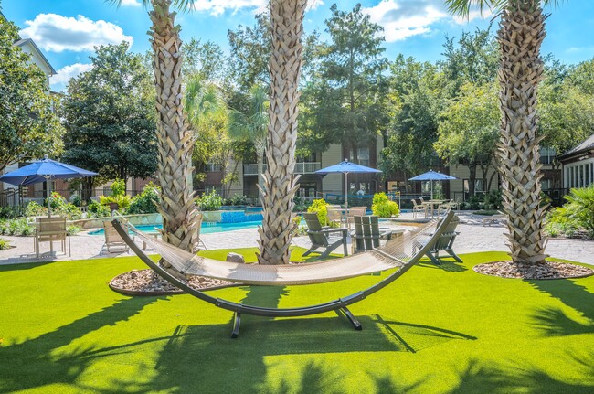
[{"label": "bright green artificial grass lawn beneath the hammock stand", "polygon": [[[472,266],[504,253],[461,257],[353,305],[363,331],[333,313],[244,315],[238,339],[231,313],[192,296],[113,293],[136,258],[0,266],[0,392],[594,392],[594,277],[502,279]],[[211,294],[295,306],[381,278]]]}]

